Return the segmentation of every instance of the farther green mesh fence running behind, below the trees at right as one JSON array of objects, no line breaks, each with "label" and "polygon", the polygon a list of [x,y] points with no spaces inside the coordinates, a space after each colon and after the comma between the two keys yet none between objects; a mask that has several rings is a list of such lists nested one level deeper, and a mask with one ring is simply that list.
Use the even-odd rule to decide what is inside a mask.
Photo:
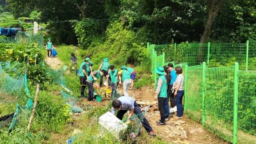
[{"label": "farther green mesh fence running behind, below the trees at right", "polygon": [[157,55],[165,53],[164,61],[174,63],[187,62],[189,66],[207,65],[229,66],[237,61],[241,70],[256,70],[256,41],[248,40],[245,44],[181,44],[150,45]]}]

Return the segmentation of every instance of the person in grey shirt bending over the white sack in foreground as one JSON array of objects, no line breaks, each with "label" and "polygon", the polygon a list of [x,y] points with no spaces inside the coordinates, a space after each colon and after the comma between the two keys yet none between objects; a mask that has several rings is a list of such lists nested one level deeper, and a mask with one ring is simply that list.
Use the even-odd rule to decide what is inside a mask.
[{"label": "person in grey shirt bending over the white sack in foreground", "polygon": [[148,123],[147,118],[145,118],[145,116],[143,116],[143,114],[142,114],[142,112],[140,110],[140,107],[138,106],[136,100],[133,99],[132,97],[122,96],[122,97],[119,97],[118,99],[113,100],[112,108],[111,108],[111,113],[113,115],[115,115],[115,110],[117,110],[116,117],[119,120],[123,119],[124,114],[128,110],[130,111],[130,113],[129,113],[128,117],[127,117],[127,122],[125,124],[129,124],[130,123],[130,118],[133,115],[133,113],[135,113],[135,115],[137,115],[138,118],[140,119],[141,124],[146,129],[148,134],[150,134],[151,136],[156,136],[156,133],[153,131],[152,127]]}]

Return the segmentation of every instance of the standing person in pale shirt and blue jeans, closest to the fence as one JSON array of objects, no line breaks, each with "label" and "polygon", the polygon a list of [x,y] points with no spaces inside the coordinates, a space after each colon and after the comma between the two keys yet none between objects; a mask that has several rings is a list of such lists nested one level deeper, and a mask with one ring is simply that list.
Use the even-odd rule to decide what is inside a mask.
[{"label": "standing person in pale shirt and blue jeans, closest to the fence", "polygon": [[175,119],[182,118],[183,115],[183,106],[182,106],[182,98],[184,95],[184,76],[182,75],[182,68],[181,67],[176,67],[175,68],[177,78],[175,81],[175,92],[174,95],[175,97],[175,102],[177,106],[177,117]]}]

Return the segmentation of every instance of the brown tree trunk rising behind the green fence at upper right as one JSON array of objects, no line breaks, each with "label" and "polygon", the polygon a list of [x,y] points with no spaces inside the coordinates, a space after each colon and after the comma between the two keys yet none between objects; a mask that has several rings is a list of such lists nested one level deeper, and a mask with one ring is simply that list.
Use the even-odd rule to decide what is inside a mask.
[{"label": "brown tree trunk rising behind the green fence at upper right", "polygon": [[[223,5],[223,0],[209,0],[208,4],[208,19],[205,24],[204,33],[201,37],[200,44],[205,44],[207,42],[207,39],[211,33],[212,22],[215,19],[216,15],[218,15],[218,12],[220,12],[220,8]],[[203,57],[203,47],[199,47],[197,54],[198,63],[202,63],[204,61]]]}]

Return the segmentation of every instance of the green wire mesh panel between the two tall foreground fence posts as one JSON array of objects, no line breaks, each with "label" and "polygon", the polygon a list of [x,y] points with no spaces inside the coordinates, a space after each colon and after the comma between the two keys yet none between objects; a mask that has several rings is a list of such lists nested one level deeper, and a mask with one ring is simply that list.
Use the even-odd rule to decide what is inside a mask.
[{"label": "green wire mesh panel between the two tall foreground fence posts", "polygon": [[234,67],[206,68],[205,81],[205,127],[232,141]]}]

